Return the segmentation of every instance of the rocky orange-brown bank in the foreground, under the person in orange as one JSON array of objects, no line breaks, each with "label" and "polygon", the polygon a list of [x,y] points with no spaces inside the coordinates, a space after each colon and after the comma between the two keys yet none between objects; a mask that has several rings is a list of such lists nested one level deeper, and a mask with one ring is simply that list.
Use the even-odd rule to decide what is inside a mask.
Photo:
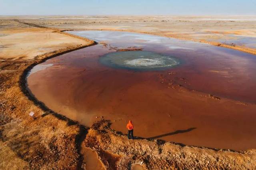
[{"label": "rocky orange-brown bank in the foreground, under the person in orange", "polygon": [[[102,157],[106,152],[119,155],[118,169],[129,169],[132,164],[140,164],[145,170],[178,169],[255,169],[254,150],[232,152],[212,150],[146,139],[128,140],[126,136],[114,132],[106,126],[106,120],[96,122],[86,135],[85,144],[94,148]],[[102,124],[102,126],[99,126]],[[109,166],[106,166],[109,168]]]}]

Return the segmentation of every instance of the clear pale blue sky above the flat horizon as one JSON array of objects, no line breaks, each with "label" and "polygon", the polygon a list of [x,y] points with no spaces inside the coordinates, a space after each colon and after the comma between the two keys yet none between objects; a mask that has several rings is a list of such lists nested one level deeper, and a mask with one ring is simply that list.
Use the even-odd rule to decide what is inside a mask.
[{"label": "clear pale blue sky above the flat horizon", "polygon": [[256,0],[0,0],[0,15],[256,15]]}]

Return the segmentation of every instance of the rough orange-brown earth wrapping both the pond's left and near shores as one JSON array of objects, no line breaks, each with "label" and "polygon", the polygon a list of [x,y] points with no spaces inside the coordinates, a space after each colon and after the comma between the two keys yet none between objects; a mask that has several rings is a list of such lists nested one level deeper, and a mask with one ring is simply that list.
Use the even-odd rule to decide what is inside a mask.
[{"label": "rough orange-brown earth wrapping both the pond's left and near shores", "polygon": [[[0,169],[80,169],[86,163],[80,154],[81,144],[98,152],[106,169],[129,169],[133,163],[144,169],[256,169],[256,150],[233,152],[160,140],[128,141],[109,129],[108,121],[96,122],[88,129],[48,110],[26,91],[26,72],[49,57],[94,42],[79,43],[30,59],[2,58]],[[28,116],[30,111],[36,113],[35,120]]]}]

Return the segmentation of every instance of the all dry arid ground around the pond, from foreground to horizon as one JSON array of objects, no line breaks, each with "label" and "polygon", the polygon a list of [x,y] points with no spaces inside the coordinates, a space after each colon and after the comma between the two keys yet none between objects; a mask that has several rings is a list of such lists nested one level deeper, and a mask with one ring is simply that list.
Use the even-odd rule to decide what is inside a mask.
[{"label": "all dry arid ground around the pond, from foreground to horizon", "polygon": [[[255,16],[0,16],[0,169],[256,169],[254,148],[128,140],[110,128],[108,119],[99,117],[87,127],[50,110],[26,88],[28,71],[49,58],[96,44],[63,30],[149,33],[256,55]],[[240,109],[255,108],[255,101],[237,103]]]}]

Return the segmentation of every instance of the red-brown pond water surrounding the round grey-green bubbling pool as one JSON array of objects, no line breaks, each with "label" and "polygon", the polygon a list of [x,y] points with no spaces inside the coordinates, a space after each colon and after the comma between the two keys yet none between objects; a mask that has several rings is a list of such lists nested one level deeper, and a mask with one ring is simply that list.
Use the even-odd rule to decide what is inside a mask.
[{"label": "red-brown pond water surrounding the round grey-green bubbling pool", "polygon": [[[63,54],[32,69],[28,88],[50,109],[86,126],[103,116],[124,133],[132,120],[134,135],[144,138],[234,150],[256,147],[256,56],[146,34],[72,33],[108,45]],[[99,61],[116,48],[134,46],[180,64],[140,71]]]}]

